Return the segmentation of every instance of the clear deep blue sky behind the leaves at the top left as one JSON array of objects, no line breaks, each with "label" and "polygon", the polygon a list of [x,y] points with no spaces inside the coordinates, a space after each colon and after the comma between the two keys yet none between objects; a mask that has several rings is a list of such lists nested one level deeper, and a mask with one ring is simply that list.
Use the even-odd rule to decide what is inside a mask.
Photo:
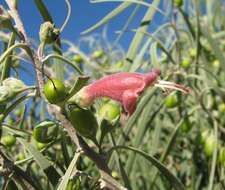
[{"label": "clear deep blue sky behind the leaves at the top left", "polygon": [[[37,8],[35,7],[34,0],[18,0],[19,1],[19,13],[25,25],[25,29],[29,37],[38,39],[39,26],[43,22]],[[4,0],[0,0],[0,3],[5,5]],[[64,0],[44,0],[44,3],[48,7],[57,27],[60,27],[66,16],[66,5]],[[81,37],[80,33],[89,28],[106,15],[110,10],[113,10],[119,3],[90,3],[89,0],[71,0],[72,3],[72,15],[68,25],[61,34],[62,38],[69,39],[73,42],[78,41]],[[108,25],[108,39],[113,41],[116,34],[115,31],[120,30],[126,22],[128,16],[131,14],[134,6],[128,8],[121,15],[114,18]],[[136,28],[144,14],[144,9],[139,11],[139,14],[134,19],[131,28]],[[157,24],[157,23],[156,23]],[[96,30],[94,33],[100,33],[103,27]],[[128,32],[122,39],[121,44],[124,48],[127,48],[133,33]]]}]

